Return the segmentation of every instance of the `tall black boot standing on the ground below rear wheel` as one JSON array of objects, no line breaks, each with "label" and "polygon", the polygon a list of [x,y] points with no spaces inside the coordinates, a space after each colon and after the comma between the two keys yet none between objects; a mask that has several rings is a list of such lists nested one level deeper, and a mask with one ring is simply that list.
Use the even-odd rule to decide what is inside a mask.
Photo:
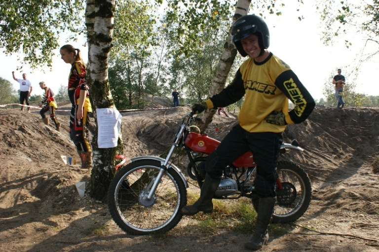
[{"label": "tall black boot standing on the ground below rear wheel", "polygon": [[259,198],[258,216],[255,224],[255,232],[253,239],[245,243],[245,248],[250,250],[259,250],[263,245],[267,244],[268,233],[267,227],[270,223],[272,213],[274,211],[275,198],[266,197]]}]

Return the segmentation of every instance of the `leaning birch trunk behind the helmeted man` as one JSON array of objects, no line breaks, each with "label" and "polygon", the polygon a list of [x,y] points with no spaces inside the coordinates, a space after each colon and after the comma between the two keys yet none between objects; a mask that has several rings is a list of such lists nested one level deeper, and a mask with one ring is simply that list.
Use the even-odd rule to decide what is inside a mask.
[{"label": "leaning birch trunk behind the helmeted man", "polygon": [[[251,0],[237,0],[237,4],[235,6],[235,12],[233,16],[233,22],[231,26],[234,24],[234,22],[246,15],[249,11]],[[230,26],[230,28],[231,28]],[[230,72],[230,68],[234,62],[235,56],[237,54],[237,49],[235,48],[233,42],[231,41],[231,35],[229,32],[229,35],[227,36],[227,41],[224,45],[224,50],[221,55],[219,65],[216,69],[215,76],[212,80],[211,87],[209,89],[209,96],[216,95],[220,93],[227,82],[227,76]],[[208,125],[212,122],[213,116],[215,115],[216,110],[209,109],[205,110],[204,115],[202,116],[202,122],[199,125],[200,130],[205,130]]]}]

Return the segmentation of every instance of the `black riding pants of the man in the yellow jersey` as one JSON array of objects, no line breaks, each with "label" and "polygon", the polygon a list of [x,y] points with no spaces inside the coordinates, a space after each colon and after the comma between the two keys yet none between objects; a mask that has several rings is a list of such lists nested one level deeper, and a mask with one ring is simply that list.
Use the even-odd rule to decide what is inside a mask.
[{"label": "black riding pants of the man in the yellow jersey", "polygon": [[223,169],[244,153],[251,151],[257,164],[255,188],[260,197],[274,197],[276,164],[279,156],[282,134],[273,132],[248,132],[241,126],[234,126],[209,155],[205,163],[208,175],[220,178]]}]

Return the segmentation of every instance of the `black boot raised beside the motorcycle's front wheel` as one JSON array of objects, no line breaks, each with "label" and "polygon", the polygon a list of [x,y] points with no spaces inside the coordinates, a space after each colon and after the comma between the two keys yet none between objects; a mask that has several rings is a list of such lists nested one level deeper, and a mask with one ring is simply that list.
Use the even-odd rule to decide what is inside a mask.
[{"label": "black boot raised beside the motorcycle's front wheel", "polygon": [[212,198],[219,187],[220,179],[213,179],[208,174],[205,175],[204,183],[201,187],[200,198],[193,203],[182,208],[182,215],[195,215],[202,211],[204,214],[213,212]]}]

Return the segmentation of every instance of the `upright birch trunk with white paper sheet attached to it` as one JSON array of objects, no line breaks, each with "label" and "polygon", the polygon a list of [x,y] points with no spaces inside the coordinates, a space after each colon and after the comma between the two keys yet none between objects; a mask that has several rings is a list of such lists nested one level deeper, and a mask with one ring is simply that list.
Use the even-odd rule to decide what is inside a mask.
[{"label": "upright birch trunk with white paper sheet attached to it", "polygon": [[96,108],[115,108],[108,80],[108,58],[113,46],[115,0],[87,0],[85,21],[87,26],[88,67],[86,81],[89,86],[96,132],[92,138],[93,168],[91,190],[93,198],[104,200],[114,176],[115,154],[122,153],[121,136],[114,148],[100,149],[97,144],[98,125]]}]

